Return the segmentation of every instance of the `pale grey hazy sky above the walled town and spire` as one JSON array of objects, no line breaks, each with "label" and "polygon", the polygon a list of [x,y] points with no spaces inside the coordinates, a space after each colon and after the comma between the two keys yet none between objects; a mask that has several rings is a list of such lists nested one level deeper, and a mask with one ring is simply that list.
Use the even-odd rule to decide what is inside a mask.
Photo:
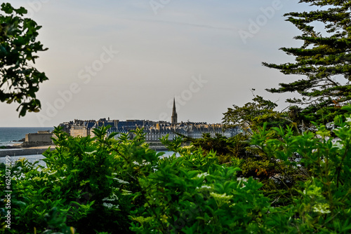
[{"label": "pale grey hazy sky above the walled town and spire", "polygon": [[[48,50],[34,66],[39,113],[18,117],[0,103],[1,127],[57,126],[100,118],[220,123],[233,104],[263,96],[284,109],[293,94],[266,88],[296,80],[262,62],[293,62],[279,48],[300,46],[284,13],[298,0],[15,0],[41,25]],[[255,89],[253,91],[252,89]]]}]

